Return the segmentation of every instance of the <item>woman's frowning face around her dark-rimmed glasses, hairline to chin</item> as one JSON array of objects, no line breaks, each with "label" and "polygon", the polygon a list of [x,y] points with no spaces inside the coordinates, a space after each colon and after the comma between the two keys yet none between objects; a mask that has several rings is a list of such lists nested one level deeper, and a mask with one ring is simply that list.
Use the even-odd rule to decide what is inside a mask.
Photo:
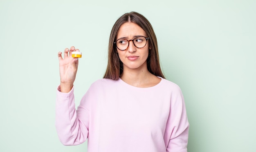
[{"label": "woman's frowning face around her dark-rimmed glasses, hairline to chin", "polygon": [[146,60],[148,58],[149,42],[146,42],[145,47],[137,48],[132,42],[132,40],[137,36],[144,36],[148,38],[146,32],[141,29],[139,25],[133,22],[126,22],[121,25],[117,33],[117,40],[120,38],[131,40],[129,41],[129,46],[126,50],[121,51],[117,48],[119,58],[124,65],[124,70],[144,68],[147,69]]}]

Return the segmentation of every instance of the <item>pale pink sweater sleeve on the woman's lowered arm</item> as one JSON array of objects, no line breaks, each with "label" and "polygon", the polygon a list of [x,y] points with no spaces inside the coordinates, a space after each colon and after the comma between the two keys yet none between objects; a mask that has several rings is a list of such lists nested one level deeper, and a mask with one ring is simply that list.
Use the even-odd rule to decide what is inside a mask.
[{"label": "pale pink sweater sleeve on the woman's lowered arm", "polygon": [[180,88],[171,96],[170,114],[166,125],[166,152],[187,152],[189,121],[186,115],[184,98]]}]

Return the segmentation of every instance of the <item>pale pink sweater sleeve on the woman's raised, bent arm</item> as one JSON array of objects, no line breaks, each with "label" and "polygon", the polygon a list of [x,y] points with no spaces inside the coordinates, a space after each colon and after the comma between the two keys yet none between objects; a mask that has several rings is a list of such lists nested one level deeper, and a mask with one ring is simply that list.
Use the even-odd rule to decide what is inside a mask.
[{"label": "pale pink sweater sleeve on the woman's raised, bent arm", "polygon": [[[63,145],[79,145],[88,137],[89,110],[79,107],[79,115],[74,103],[74,87],[68,93],[56,93],[55,125],[58,137]],[[83,99],[82,99],[83,100]],[[79,116],[83,115],[83,120]]]}]

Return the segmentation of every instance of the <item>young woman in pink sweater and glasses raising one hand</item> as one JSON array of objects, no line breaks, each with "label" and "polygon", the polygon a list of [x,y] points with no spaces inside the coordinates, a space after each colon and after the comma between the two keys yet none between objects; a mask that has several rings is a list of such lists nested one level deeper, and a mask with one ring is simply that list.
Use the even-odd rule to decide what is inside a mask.
[{"label": "young woman in pink sweater and glasses raising one hand", "polygon": [[64,145],[88,139],[88,152],[187,152],[189,122],[180,88],[164,79],[157,39],[139,13],[121,16],[112,28],[108,66],[75,109],[75,47],[58,53],[61,84],[56,130]]}]

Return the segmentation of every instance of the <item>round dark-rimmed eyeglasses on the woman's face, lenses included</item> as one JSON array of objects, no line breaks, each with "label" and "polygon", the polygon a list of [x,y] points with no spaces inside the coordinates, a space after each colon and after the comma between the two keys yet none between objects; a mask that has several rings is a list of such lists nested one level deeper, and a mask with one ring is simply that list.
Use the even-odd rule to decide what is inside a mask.
[{"label": "round dark-rimmed eyeglasses on the woman's face, lenses included", "polygon": [[129,47],[130,41],[133,42],[134,46],[137,48],[143,48],[147,44],[147,40],[149,39],[146,38],[145,36],[137,36],[133,40],[127,40],[124,38],[120,38],[114,42],[114,44],[117,46],[117,49],[124,51]]}]

